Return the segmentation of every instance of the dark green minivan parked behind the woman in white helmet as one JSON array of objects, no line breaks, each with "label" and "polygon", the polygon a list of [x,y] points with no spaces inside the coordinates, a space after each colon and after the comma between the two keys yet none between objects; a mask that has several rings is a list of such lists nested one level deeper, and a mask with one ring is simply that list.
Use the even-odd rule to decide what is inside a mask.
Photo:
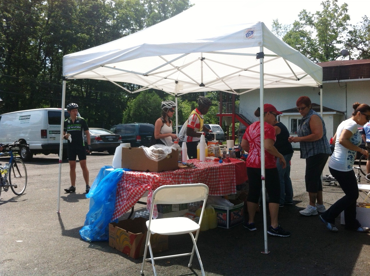
[{"label": "dark green minivan parked behind the woman in white helmet", "polygon": [[122,143],[130,143],[131,147],[150,147],[150,139],[154,133],[154,125],[149,123],[128,123],[112,126],[110,132],[120,134]]}]

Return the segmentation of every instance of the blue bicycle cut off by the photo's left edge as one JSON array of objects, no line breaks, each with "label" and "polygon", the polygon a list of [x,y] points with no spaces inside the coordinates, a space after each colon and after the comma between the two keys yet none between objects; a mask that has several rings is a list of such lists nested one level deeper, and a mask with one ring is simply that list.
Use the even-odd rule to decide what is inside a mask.
[{"label": "blue bicycle cut off by the photo's left edge", "polygon": [[[1,190],[7,192],[9,187],[16,195],[21,195],[26,190],[27,186],[27,170],[23,161],[19,158],[14,158],[13,150],[14,147],[19,147],[20,144],[6,144],[3,145],[3,149],[9,148],[9,151],[0,153],[1,156],[9,156],[9,163],[0,166],[0,195]],[[0,164],[1,165],[1,164]]]}]

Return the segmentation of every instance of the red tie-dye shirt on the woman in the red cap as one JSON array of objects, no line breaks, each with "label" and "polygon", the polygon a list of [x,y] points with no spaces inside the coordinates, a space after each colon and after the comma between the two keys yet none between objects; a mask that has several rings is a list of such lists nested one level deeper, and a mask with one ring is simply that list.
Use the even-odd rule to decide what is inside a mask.
[{"label": "red tie-dye shirt on the woman in the red cap", "polygon": [[[261,130],[260,122],[254,122],[247,127],[243,139],[249,142],[249,152],[247,158],[247,167],[261,167]],[[272,125],[265,122],[265,139],[276,141],[275,129]],[[265,150],[265,168],[276,168],[275,156]]]}]

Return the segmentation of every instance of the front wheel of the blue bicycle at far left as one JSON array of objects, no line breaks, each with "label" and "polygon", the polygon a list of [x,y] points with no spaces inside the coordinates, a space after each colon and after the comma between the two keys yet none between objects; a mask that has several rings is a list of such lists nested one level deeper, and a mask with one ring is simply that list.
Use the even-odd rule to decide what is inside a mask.
[{"label": "front wheel of the blue bicycle at far left", "polygon": [[19,158],[14,159],[11,163],[8,178],[9,183],[11,184],[11,190],[14,192],[14,194],[23,194],[27,186],[27,170],[23,161]]}]

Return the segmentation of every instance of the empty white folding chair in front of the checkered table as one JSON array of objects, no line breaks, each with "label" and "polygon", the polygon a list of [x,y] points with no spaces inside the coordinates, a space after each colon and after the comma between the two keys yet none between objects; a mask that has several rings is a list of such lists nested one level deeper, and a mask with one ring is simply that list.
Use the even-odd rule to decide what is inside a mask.
[{"label": "empty white folding chair in front of the checkered table", "polygon": [[[152,195],[152,205],[150,209],[150,218],[147,221],[148,234],[147,240],[145,242],[144,258],[142,260],[141,266],[141,275],[144,275],[144,264],[145,261],[151,260],[154,275],[157,276],[155,270],[154,260],[165,259],[165,258],[174,258],[180,256],[191,256],[188,267],[191,268],[191,263],[194,256],[194,251],[199,260],[199,265],[201,266],[202,275],[204,274],[203,264],[201,257],[199,256],[198,248],[196,247],[196,241],[198,239],[199,229],[202,222],[203,212],[205,209],[206,201],[208,198],[208,187],[205,184],[181,184],[181,185],[164,185],[157,188]],[[161,218],[161,219],[152,219],[153,209],[155,204],[183,204],[195,201],[203,200],[203,208],[201,216],[199,217],[199,222],[196,223],[189,218],[184,217],[175,217],[175,218]],[[192,232],[196,231],[196,235]],[[153,257],[152,247],[150,244],[150,236],[152,234],[161,234],[161,235],[180,235],[189,233],[193,242],[193,249],[190,253],[183,253],[177,255],[168,255],[161,257]],[[147,258],[147,250],[149,248],[150,258]]]}]

